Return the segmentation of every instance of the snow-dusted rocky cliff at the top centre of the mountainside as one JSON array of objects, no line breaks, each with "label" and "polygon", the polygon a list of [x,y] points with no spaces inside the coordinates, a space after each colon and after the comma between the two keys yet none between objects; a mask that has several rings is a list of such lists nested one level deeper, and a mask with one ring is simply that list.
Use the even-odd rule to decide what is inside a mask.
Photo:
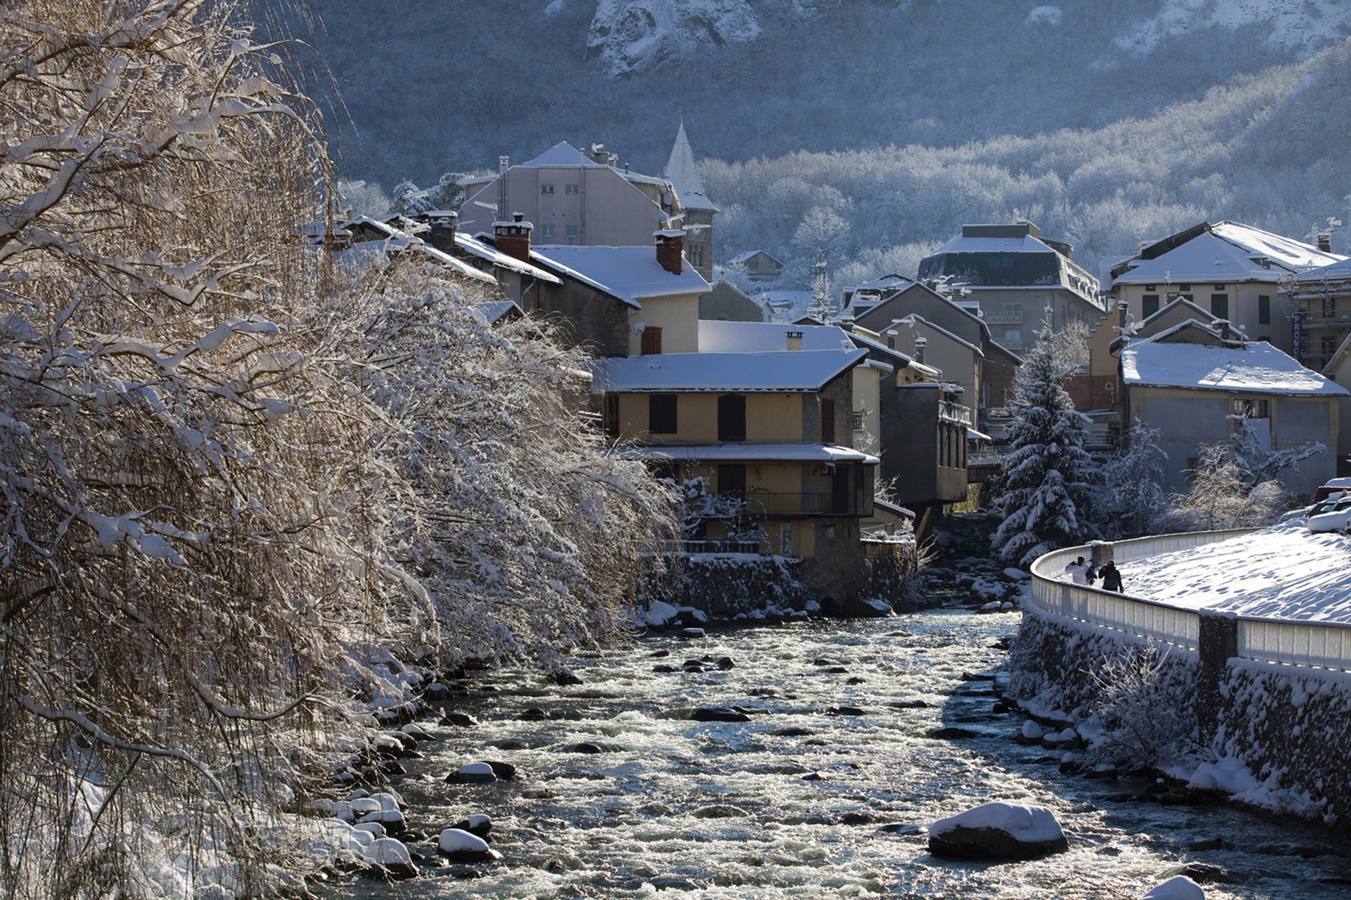
[{"label": "snow-dusted rocky cliff at the top centre of the mountainside", "polygon": [[626,77],[759,35],[759,20],[746,0],[600,0],[586,51],[612,77]]}]

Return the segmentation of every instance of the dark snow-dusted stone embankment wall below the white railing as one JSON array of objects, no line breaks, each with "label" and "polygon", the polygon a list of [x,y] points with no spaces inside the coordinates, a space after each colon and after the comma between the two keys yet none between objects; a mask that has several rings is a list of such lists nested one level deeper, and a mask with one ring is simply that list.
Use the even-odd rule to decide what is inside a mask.
[{"label": "dark snow-dusted stone embankment wall below the white railing", "polygon": [[[1224,635],[1209,638],[1224,643]],[[1009,697],[1082,720],[1111,661],[1142,646],[1148,643],[1025,608],[1011,649]],[[1351,823],[1351,676],[1238,658],[1213,666],[1177,653],[1163,658],[1159,677],[1174,704],[1167,712],[1200,746],[1197,765],[1236,759],[1255,778],[1236,800]]]}]

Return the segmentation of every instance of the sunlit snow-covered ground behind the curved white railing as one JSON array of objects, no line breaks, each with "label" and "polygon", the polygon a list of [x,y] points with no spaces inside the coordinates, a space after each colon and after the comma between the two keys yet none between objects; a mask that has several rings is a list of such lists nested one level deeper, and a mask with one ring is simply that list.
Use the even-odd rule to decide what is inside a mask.
[{"label": "sunlit snow-covered ground behind the curved white railing", "polygon": [[1119,562],[1125,592],[1188,609],[1351,623],[1351,536],[1277,526]]}]

